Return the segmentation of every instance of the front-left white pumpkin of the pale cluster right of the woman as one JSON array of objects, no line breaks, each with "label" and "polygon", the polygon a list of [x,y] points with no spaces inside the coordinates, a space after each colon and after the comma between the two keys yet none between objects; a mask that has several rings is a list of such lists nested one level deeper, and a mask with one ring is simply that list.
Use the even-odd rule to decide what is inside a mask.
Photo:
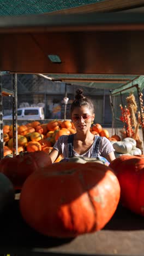
[{"label": "front-left white pumpkin of the pale cluster right of the woman", "polygon": [[113,148],[117,153],[127,154],[132,150],[133,144],[127,141],[117,141],[113,143]]}]

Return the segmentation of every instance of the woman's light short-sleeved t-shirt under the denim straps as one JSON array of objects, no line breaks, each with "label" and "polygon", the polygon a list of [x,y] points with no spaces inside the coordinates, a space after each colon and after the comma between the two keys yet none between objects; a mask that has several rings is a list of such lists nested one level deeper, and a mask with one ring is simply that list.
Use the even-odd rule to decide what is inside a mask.
[{"label": "woman's light short-sleeved t-shirt under the denim straps", "polygon": [[[96,135],[95,135],[96,137]],[[93,143],[94,144],[94,143]],[[93,144],[90,149],[87,150],[84,154],[81,154],[81,156],[86,156],[87,158],[91,158],[92,152],[93,152]],[[62,135],[58,138],[55,145],[53,146],[59,154],[63,155],[63,158],[68,158],[68,135]],[[115,149],[113,149],[113,146],[109,139],[106,137],[100,137],[100,143],[99,143],[99,152],[98,156],[103,156],[106,158],[106,155],[108,155],[111,152],[114,152]],[[73,150],[74,156],[79,156],[80,154],[76,153],[75,150]]]}]

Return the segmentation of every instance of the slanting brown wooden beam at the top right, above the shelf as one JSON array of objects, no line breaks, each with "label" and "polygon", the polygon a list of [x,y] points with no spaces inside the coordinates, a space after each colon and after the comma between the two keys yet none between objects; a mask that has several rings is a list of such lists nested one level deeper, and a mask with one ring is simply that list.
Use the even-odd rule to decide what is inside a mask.
[{"label": "slanting brown wooden beam at the top right, above the shelf", "polygon": [[105,0],[93,4],[85,4],[80,7],[52,11],[45,13],[52,14],[80,14],[80,13],[109,13],[111,11],[127,10],[136,7],[144,6],[143,0]]}]

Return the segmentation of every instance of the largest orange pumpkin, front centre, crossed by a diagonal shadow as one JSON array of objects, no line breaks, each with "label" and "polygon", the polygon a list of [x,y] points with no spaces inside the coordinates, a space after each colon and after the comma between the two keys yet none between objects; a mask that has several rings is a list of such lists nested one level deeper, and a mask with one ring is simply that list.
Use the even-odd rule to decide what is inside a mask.
[{"label": "largest orange pumpkin, front centre, crossed by a diagonal shadow", "polygon": [[20,211],[27,224],[41,234],[76,237],[103,228],[115,212],[119,196],[117,177],[108,166],[60,162],[27,178]]}]

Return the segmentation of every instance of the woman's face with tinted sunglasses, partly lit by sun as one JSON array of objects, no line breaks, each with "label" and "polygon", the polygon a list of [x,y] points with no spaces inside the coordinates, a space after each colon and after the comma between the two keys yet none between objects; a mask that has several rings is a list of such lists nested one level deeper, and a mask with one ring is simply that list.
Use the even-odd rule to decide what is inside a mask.
[{"label": "woman's face with tinted sunglasses, partly lit by sun", "polygon": [[94,120],[92,110],[86,106],[77,107],[71,113],[71,120],[73,121],[76,130],[85,131],[91,127]]}]

